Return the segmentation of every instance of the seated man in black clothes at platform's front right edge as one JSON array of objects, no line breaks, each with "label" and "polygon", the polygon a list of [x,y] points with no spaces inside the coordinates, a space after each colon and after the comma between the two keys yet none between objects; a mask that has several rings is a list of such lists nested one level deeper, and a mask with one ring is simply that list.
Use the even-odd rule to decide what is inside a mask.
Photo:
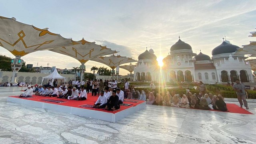
[{"label": "seated man in black clothes at platform's front right edge", "polygon": [[116,90],[114,89],[112,92],[112,96],[108,99],[107,105],[105,107],[106,110],[118,110],[120,105],[118,104],[118,96],[116,96]]}]

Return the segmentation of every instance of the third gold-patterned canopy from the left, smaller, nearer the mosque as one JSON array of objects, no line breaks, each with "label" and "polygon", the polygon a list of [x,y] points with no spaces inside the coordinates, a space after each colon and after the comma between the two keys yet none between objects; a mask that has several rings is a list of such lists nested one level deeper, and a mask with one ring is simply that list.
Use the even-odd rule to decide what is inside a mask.
[{"label": "third gold-patterned canopy from the left, smaller, nearer the mosque", "polygon": [[106,64],[112,69],[116,68],[117,66],[120,66],[121,64],[129,63],[129,62],[137,62],[132,58],[127,58],[126,56],[120,56],[120,55],[115,56],[114,54],[111,56],[105,56],[105,57],[100,56],[98,58],[93,58],[92,60],[95,62]]}]

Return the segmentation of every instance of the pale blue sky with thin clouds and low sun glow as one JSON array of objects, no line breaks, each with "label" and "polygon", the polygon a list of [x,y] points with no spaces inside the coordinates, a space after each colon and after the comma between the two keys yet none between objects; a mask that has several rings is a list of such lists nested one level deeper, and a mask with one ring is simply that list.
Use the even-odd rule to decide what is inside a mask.
[{"label": "pale blue sky with thin clouds and low sun glow", "polygon": [[[212,56],[222,38],[242,46],[256,41],[248,37],[256,28],[256,0],[9,0],[0,1],[0,16],[64,38],[96,42],[119,51],[121,56],[138,60],[151,48],[164,58],[180,39],[192,46],[194,53]],[[0,47],[2,55],[14,56]],[[34,66],[72,68],[78,60],[50,51],[33,52],[22,59]],[[135,64],[135,63],[134,63]],[[86,72],[98,62],[86,62]],[[120,74],[129,72],[120,68]]]}]

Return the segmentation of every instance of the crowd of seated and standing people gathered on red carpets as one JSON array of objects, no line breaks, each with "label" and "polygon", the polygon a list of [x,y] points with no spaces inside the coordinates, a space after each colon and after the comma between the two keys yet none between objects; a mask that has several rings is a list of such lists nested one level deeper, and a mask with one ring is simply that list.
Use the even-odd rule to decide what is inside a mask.
[{"label": "crowd of seated and standing people gathered on red carpets", "polygon": [[[134,99],[146,101],[146,104],[172,106],[178,108],[196,108],[202,110],[221,110],[227,111],[226,103],[222,95],[214,95],[206,93],[206,88],[202,82],[198,86],[199,94],[192,94],[188,89],[186,93],[177,94],[175,91],[171,92],[156,92],[155,86],[150,84],[150,90],[130,90],[130,84],[126,80],[124,84],[124,91],[117,87],[115,80],[104,82],[100,80],[88,80],[87,82],[79,82],[78,80],[70,80],[68,88],[65,86],[28,86],[28,89],[23,92],[20,97],[30,97],[35,92],[36,95],[49,96],[56,98],[66,98],[68,100],[86,100],[87,94],[92,92],[92,96],[99,96],[94,106],[99,108],[106,108],[108,110],[116,110],[120,108],[120,104],[124,99]],[[238,101],[241,107],[244,105],[248,109],[245,96],[245,86],[236,80],[233,89],[238,95]],[[243,102],[242,102],[243,100]]]}]

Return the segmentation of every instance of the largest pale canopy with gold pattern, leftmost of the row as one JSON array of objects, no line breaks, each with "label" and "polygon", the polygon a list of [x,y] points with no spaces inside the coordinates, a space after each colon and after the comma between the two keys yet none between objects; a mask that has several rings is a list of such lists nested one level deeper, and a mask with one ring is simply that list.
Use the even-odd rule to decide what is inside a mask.
[{"label": "largest pale canopy with gold pattern, leftmost of the row", "polygon": [[74,45],[71,39],[60,34],[23,24],[15,18],[0,16],[0,46],[9,50],[14,56],[25,56],[39,50],[50,50],[62,46]]}]

